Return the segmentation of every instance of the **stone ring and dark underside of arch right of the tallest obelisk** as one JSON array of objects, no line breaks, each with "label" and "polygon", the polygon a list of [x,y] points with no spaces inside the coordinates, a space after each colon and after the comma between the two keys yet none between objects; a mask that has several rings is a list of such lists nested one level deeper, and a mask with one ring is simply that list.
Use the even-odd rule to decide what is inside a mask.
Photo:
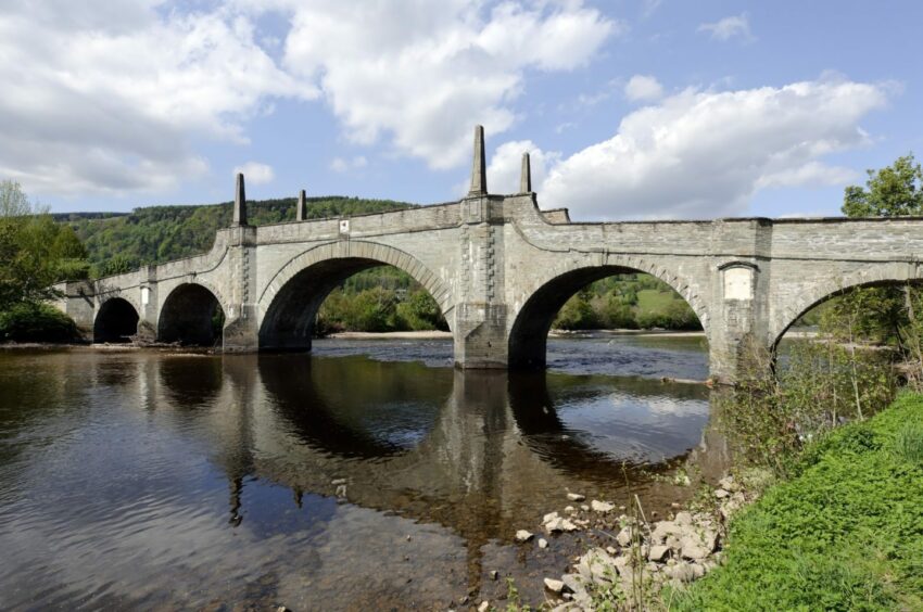
[{"label": "stone ring and dark underside of arch right of the tallest obelisk", "polygon": [[548,332],[557,314],[571,296],[584,286],[617,275],[645,273],[667,283],[698,318],[706,339],[709,337],[708,311],[703,301],[675,275],[666,268],[642,260],[606,257],[605,264],[570,263],[549,271],[527,295],[515,314],[507,345],[510,369],[535,370],[545,367]]}]

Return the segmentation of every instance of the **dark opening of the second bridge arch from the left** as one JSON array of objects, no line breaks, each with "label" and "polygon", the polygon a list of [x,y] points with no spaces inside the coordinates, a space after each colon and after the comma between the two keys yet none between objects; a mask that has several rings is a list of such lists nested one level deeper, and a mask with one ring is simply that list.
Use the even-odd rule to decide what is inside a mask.
[{"label": "dark opening of the second bridge arch from the left", "polygon": [[216,346],[223,342],[225,309],[204,284],[185,282],[169,292],[157,317],[157,342]]}]

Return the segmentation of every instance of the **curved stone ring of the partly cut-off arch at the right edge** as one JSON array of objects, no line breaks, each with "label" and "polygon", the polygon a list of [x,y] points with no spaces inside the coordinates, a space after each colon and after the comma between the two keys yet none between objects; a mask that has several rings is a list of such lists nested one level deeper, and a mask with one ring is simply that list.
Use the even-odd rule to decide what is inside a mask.
[{"label": "curved stone ring of the partly cut-off arch at the right edge", "polygon": [[923,284],[923,278],[920,273],[921,270],[918,270],[915,265],[900,265],[899,269],[889,266],[880,270],[859,270],[838,279],[825,279],[823,282],[817,283],[810,291],[806,291],[799,294],[796,299],[793,299],[789,306],[780,307],[780,314],[773,317],[770,329],[772,354],[775,355],[785,333],[801,317],[825,302],[859,289],[920,285]]}]

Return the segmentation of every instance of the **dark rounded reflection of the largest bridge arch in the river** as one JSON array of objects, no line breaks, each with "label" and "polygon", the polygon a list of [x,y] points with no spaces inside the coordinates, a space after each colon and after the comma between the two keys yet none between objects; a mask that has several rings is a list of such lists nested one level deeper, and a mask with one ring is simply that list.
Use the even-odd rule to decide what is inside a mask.
[{"label": "dark rounded reflection of the largest bridge arch in the river", "polygon": [[[387,458],[418,447],[452,393],[451,371],[364,357],[263,354],[257,371],[292,433],[341,458]],[[422,419],[419,410],[408,419],[401,413],[418,406],[430,406],[430,413]],[[405,429],[421,421],[422,429]]]}]

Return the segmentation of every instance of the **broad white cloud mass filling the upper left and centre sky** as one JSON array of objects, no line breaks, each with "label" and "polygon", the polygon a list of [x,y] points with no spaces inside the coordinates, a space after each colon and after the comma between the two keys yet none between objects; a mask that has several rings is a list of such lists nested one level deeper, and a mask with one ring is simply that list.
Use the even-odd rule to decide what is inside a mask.
[{"label": "broad white cloud mass filling the upper left and centre sky", "polygon": [[[289,27],[261,30],[267,13]],[[582,0],[9,0],[0,176],[163,190],[207,173],[203,138],[245,144],[276,99],[320,97],[353,141],[451,167],[472,125],[515,123],[524,71],[584,66],[623,30]]]}]

